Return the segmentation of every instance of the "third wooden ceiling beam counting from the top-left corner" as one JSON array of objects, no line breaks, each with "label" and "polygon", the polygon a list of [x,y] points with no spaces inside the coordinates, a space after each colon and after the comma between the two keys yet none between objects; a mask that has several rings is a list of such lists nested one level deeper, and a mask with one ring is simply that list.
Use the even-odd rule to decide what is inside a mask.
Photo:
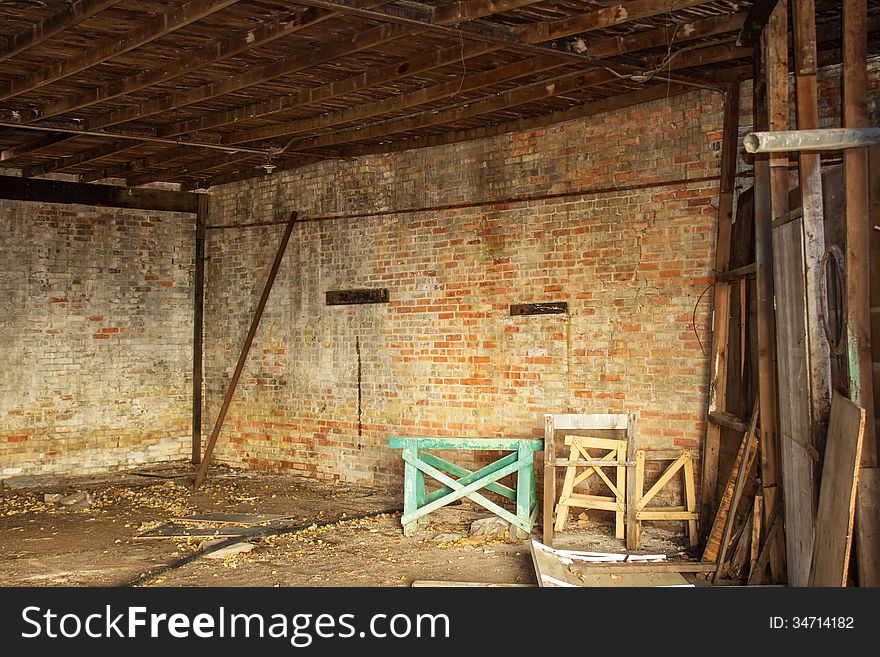
[{"label": "third wooden ceiling beam counting from the top-left corner", "polygon": [[233,37],[215,41],[193,52],[182,53],[173,64],[144,71],[137,75],[120,79],[118,82],[93,87],[76,96],[68,96],[53,103],[47,103],[30,111],[25,118],[27,120],[36,120],[58,116],[168,82],[230,57],[235,57],[247,50],[264,46],[277,39],[312,27],[337,15],[336,12],[327,9],[306,8],[292,16],[286,15],[283,18],[263,23],[255,28],[244,30]]}]

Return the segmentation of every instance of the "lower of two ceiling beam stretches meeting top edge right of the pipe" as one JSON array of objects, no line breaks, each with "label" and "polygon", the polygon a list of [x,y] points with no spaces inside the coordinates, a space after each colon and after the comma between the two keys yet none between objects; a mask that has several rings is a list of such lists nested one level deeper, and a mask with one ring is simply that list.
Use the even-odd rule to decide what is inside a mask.
[{"label": "lower of two ceiling beam stretches meeting top edge right of the pipe", "polygon": [[523,43],[542,43],[553,41],[592,30],[601,30],[622,23],[652,18],[673,11],[680,11],[698,5],[708,4],[709,0],[633,0],[603,9],[576,14],[554,21],[544,21],[524,27],[520,31]]}]

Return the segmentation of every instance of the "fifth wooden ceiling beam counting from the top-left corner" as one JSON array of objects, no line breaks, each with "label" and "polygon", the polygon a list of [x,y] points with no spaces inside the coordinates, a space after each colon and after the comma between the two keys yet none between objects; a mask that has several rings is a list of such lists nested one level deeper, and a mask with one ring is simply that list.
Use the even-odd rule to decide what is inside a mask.
[{"label": "fifth wooden ceiling beam counting from the top-left corner", "polygon": [[322,103],[333,98],[346,96],[358,91],[363,91],[388,82],[394,82],[405,77],[418,75],[449,64],[467,61],[473,57],[479,57],[498,50],[500,46],[482,42],[467,42],[462,46],[456,44],[449,48],[443,48],[424,55],[419,55],[404,62],[387,64],[373,67],[364,73],[337,80],[328,84],[308,89],[287,96],[278,96],[271,100],[260,103],[252,103],[244,107],[232,110],[210,112],[195,119],[178,121],[160,126],[157,134],[161,137],[191,134],[210,128],[247,121],[248,119],[260,118],[269,114],[275,114],[284,110],[304,107],[315,103]]}]

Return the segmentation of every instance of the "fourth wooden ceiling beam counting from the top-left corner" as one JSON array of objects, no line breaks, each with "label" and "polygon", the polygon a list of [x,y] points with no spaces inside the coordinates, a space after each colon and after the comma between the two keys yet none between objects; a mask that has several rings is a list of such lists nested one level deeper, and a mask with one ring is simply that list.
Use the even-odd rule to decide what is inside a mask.
[{"label": "fourth wooden ceiling beam counting from the top-left corner", "polygon": [[297,53],[269,64],[251,67],[238,75],[225,77],[186,91],[172,93],[141,105],[102,114],[88,121],[88,129],[94,130],[128,121],[136,121],[160,112],[167,112],[178,107],[210,100],[216,96],[240,91],[241,89],[318,66],[340,57],[374,48],[403,36],[412,36],[415,33],[416,30],[411,27],[389,24],[378,25],[369,30],[353,34],[348,38],[336,40],[317,50]]}]

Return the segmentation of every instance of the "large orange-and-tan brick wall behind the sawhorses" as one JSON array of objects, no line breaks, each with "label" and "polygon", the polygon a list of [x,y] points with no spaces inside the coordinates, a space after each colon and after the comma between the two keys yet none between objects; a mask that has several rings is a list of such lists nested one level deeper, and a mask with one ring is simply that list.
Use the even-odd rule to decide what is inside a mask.
[{"label": "large orange-and-tan brick wall behind the sawhorses", "polygon": [[[212,190],[212,224],[325,217],[295,228],[219,459],[399,485],[390,436],[541,436],[548,412],[632,411],[643,444],[698,449],[720,122],[695,92]],[[282,230],[209,231],[206,424]],[[324,305],[359,287],[391,303]],[[551,300],[569,314],[509,315]]]}]

